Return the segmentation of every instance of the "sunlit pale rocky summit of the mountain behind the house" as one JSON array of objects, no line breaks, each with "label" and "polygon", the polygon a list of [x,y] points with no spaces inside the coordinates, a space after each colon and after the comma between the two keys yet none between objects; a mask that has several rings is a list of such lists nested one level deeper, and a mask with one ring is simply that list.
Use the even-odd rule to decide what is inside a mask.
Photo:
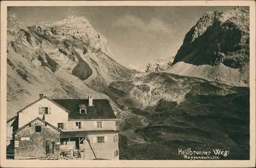
[{"label": "sunlit pale rocky summit of the mountain behind the house", "polygon": [[43,21],[29,28],[31,31],[47,36],[50,39],[61,41],[80,41],[93,50],[111,55],[107,40],[96,32],[84,17],[69,16],[60,21]]}]

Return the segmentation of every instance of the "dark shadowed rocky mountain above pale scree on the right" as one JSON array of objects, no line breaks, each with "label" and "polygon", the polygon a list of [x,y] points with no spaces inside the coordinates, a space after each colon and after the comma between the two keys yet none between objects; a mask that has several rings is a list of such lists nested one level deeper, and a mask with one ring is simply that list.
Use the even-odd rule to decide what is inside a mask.
[{"label": "dark shadowed rocky mountain above pale scree on the right", "polygon": [[207,12],[185,35],[173,64],[242,68],[249,62],[249,12],[241,7]]}]

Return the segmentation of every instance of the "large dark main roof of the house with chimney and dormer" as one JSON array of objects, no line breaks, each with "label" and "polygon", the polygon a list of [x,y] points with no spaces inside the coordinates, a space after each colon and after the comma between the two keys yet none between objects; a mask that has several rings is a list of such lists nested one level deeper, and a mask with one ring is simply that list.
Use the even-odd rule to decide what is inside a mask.
[{"label": "large dark main roof of the house with chimney and dormer", "polygon": [[[89,106],[88,99],[52,99],[60,106],[70,111],[69,119],[115,119],[116,115],[107,99],[94,99]],[[87,106],[87,113],[79,113],[79,105]]]}]

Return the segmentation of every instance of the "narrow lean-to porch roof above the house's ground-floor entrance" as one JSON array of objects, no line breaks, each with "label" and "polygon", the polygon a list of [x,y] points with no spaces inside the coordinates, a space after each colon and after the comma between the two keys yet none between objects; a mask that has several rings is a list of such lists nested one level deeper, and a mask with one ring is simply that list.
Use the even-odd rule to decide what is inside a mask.
[{"label": "narrow lean-to porch roof above the house's ground-floor entrance", "polygon": [[95,131],[63,131],[60,132],[61,138],[71,138],[71,137],[85,137],[91,134],[111,134],[118,133],[115,130],[95,130]]}]

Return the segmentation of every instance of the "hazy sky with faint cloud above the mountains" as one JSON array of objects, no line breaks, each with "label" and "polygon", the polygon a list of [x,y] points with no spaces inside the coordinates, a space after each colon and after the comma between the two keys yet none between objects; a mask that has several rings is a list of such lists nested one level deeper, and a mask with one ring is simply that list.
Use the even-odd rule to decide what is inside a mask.
[{"label": "hazy sky with faint cloud above the mountains", "polygon": [[207,11],[234,7],[10,7],[26,26],[67,16],[86,17],[108,39],[116,61],[144,67],[175,56],[185,34]]}]

